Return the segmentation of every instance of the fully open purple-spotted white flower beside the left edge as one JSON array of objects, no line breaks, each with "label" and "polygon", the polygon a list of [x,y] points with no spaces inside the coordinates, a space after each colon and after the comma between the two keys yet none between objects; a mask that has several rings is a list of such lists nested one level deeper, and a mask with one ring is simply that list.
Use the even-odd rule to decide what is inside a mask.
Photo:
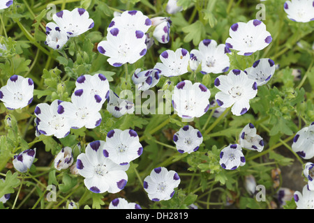
[{"label": "fully open purple-spotted white flower beside the left edge", "polygon": [[21,109],[33,101],[33,80],[13,75],[0,89],[0,100],[7,109]]}]

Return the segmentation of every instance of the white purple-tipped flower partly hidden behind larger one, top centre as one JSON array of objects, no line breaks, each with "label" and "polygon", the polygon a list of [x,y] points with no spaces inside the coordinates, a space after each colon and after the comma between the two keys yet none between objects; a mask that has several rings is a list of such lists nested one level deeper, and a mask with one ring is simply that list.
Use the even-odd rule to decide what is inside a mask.
[{"label": "white purple-tipped flower partly hidden behind larger one, top centre", "polygon": [[119,29],[119,31],[142,31],[146,33],[151,27],[151,20],[139,10],[127,10],[119,16],[115,16],[110,22],[107,32],[112,33],[112,29]]}]

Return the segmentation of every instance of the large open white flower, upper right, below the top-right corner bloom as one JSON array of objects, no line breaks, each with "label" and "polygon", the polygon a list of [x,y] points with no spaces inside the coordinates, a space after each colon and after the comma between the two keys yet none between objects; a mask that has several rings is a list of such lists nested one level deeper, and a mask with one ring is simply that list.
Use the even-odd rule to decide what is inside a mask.
[{"label": "large open white flower, upper right, below the top-right corner bloom", "polygon": [[264,49],[271,43],[271,34],[260,20],[250,20],[247,23],[238,22],[230,27],[225,45],[235,49],[239,55],[249,56],[257,50]]}]

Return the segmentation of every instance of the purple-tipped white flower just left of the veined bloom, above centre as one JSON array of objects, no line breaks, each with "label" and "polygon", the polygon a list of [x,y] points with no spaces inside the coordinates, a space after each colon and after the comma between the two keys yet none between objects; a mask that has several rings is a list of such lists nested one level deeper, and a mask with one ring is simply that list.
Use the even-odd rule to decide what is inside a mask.
[{"label": "purple-tipped white flower just left of the veined bloom, above centre", "polygon": [[160,54],[160,61],[156,63],[154,69],[159,70],[159,75],[165,77],[173,77],[184,75],[188,72],[188,61],[190,61],[190,53],[184,49],[179,48],[176,52],[167,49]]}]

